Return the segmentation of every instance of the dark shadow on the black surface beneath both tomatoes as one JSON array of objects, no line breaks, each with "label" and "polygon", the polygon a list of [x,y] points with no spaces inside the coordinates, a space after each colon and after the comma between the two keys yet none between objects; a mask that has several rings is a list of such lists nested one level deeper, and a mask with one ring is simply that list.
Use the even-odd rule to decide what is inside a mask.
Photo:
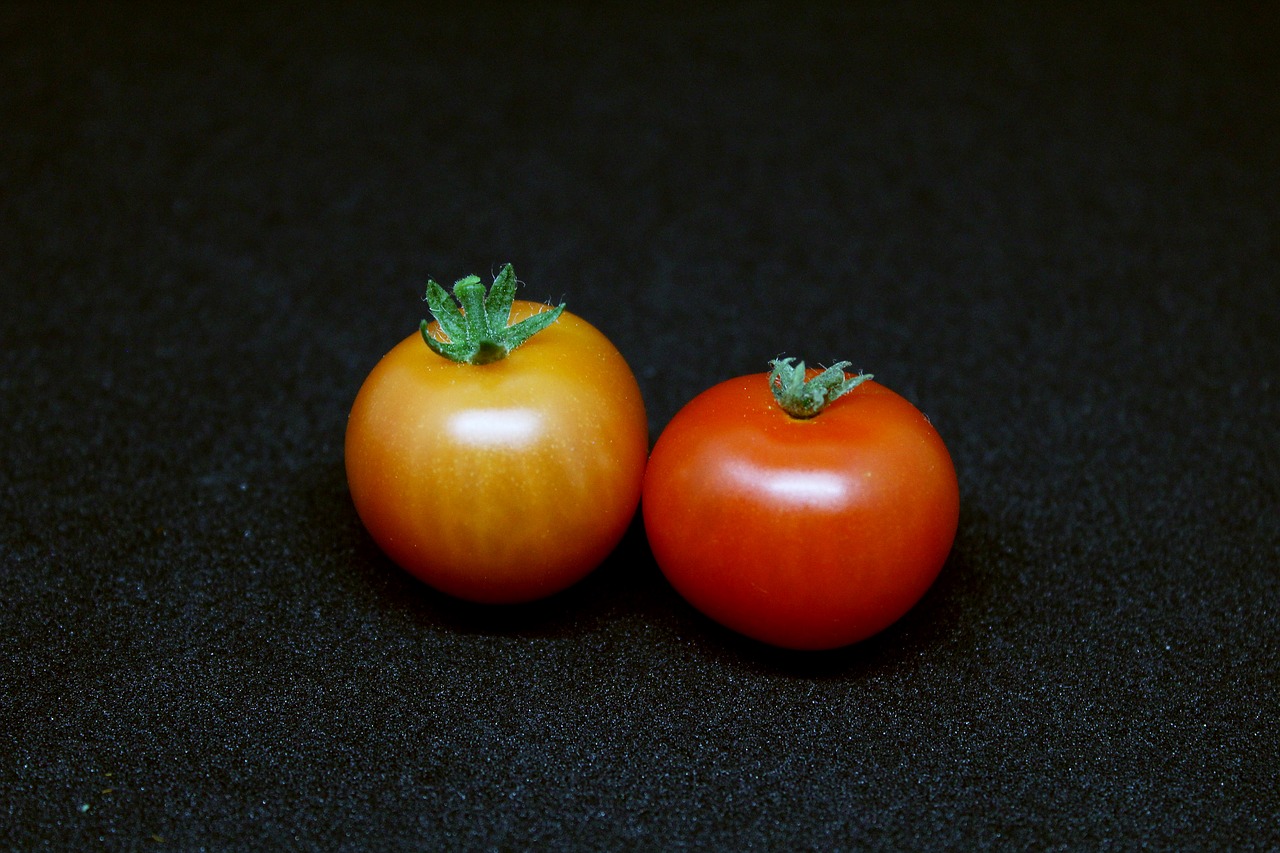
[{"label": "dark shadow on the black surface beneath both tomatoes", "polygon": [[[573,587],[524,605],[476,605],[440,593],[396,565],[361,525],[344,480],[328,487],[330,494],[340,493],[346,502],[342,508],[346,523],[339,535],[353,553],[349,592],[366,602],[371,598],[372,607],[396,619],[425,630],[463,635],[572,638],[641,630],[654,639],[669,638],[686,651],[691,646],[709,661],[795,678],[856,678],[972,643],[977,621],[995,593],[993,575],[998,575],[1000,561],[1014,547],[1010,530],[970,500],[961,505],[960,526],[947,562],[902,619],[861,643],[801,652],[742,637],[685,602],[654,562],[640,512],[613,553]],[[663,654],[660,647],[654,652]]]}]

